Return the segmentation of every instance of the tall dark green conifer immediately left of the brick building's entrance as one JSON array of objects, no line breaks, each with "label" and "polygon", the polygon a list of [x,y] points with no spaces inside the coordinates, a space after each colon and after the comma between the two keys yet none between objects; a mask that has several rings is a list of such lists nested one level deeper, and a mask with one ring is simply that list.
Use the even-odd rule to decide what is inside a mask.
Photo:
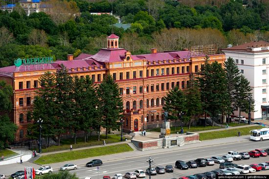
[{"label": "tall dark green conifer immediately left of the brick building's entrance", "polygon": [[111,75],[99,85],[97,89],[99,98],[99,110],[102,115],[102,127],[106,128],[106,138],[108,131],[119,129],[118,121],[122,118],[123,103],[119,95],[118,84],[114,82]]}]

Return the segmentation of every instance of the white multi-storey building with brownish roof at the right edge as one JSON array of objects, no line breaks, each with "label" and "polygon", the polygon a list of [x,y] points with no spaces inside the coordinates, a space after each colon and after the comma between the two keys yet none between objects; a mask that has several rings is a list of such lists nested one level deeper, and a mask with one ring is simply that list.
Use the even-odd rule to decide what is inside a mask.
[{"label": "white multi-storey building with brownish roof at the right edge", "polygon": [[[251,112],[251,119],[269,117],[269,43],[257,41],[222,50],[226,59],[235,60],[241,73],[250,82],[252,96],[255,100],[255,112]],[[235,112],[239,115],[239,111]],[[248,116],[247,113],[241,115]]]}]

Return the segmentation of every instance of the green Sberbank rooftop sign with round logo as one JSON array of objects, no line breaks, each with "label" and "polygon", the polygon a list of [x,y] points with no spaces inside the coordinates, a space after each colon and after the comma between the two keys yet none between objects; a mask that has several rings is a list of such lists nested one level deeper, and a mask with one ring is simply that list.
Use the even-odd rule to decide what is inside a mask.
[{"label": "green Sberbank rooftop sign with round logo", "polygon": [[21,65],[39,65],[39,64],[51,64],[53,63],[53,57],[41,57],[41,58],[25,58],[14,60],[14,65],[20,67]]}]

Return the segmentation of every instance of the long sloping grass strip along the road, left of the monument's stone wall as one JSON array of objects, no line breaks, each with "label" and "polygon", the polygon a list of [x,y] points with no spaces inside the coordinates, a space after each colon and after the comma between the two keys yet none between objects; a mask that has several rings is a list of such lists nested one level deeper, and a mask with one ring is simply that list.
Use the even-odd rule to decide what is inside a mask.
[{"label": "long sloping grass strip along the road, left of the monument's stone wall", "polygon": [[43,164],[48,164],[48,163],[56,163],[56,162],[76,160],[76,159],[81,159],[81,158],[104,156],[104,155],[129,152],[129,151],[133,151],[133,149],[128,144],[118,144],[118,145],[96,147],[96,148],[85,149],[85,150],[63,152],[59,154],[50,154],[50,155],[40,157],[39,159],[35,161],[35,163],[43,165]]}]

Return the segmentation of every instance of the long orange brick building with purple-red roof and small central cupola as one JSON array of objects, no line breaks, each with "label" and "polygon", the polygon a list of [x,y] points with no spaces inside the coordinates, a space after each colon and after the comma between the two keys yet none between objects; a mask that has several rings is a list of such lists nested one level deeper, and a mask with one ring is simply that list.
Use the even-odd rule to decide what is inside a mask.
[{"label": "long orange brick building with purple-red roof and small central cupola", "polygon": [[[0,68],[0,80],[13,87],[12,121],[19,127],[15,142],[26,139],[27,125],[32,122],[27,112],[32,110],[35,91],[40,87],[38,79],[46,71],[56,72],[60,64],[65,65],[71,75],[81,78],[89,75],[97,84],[107,74],[113,76],[123,99],[124,131],[160,127],[163,97],[175,86],[185,89],[190,73],[200,70],[205,56],[192,56],[188,49],[160,53],[156,48],[152,48],[150,54],[132,55],[119,48],[118,39],[114,34],[108,36],[107,48],[95,55],[81,54],[75,59],[68,55],[67,61]],[[209,58],[220,64],[225,61],[224,54],[209,55]]]}]

